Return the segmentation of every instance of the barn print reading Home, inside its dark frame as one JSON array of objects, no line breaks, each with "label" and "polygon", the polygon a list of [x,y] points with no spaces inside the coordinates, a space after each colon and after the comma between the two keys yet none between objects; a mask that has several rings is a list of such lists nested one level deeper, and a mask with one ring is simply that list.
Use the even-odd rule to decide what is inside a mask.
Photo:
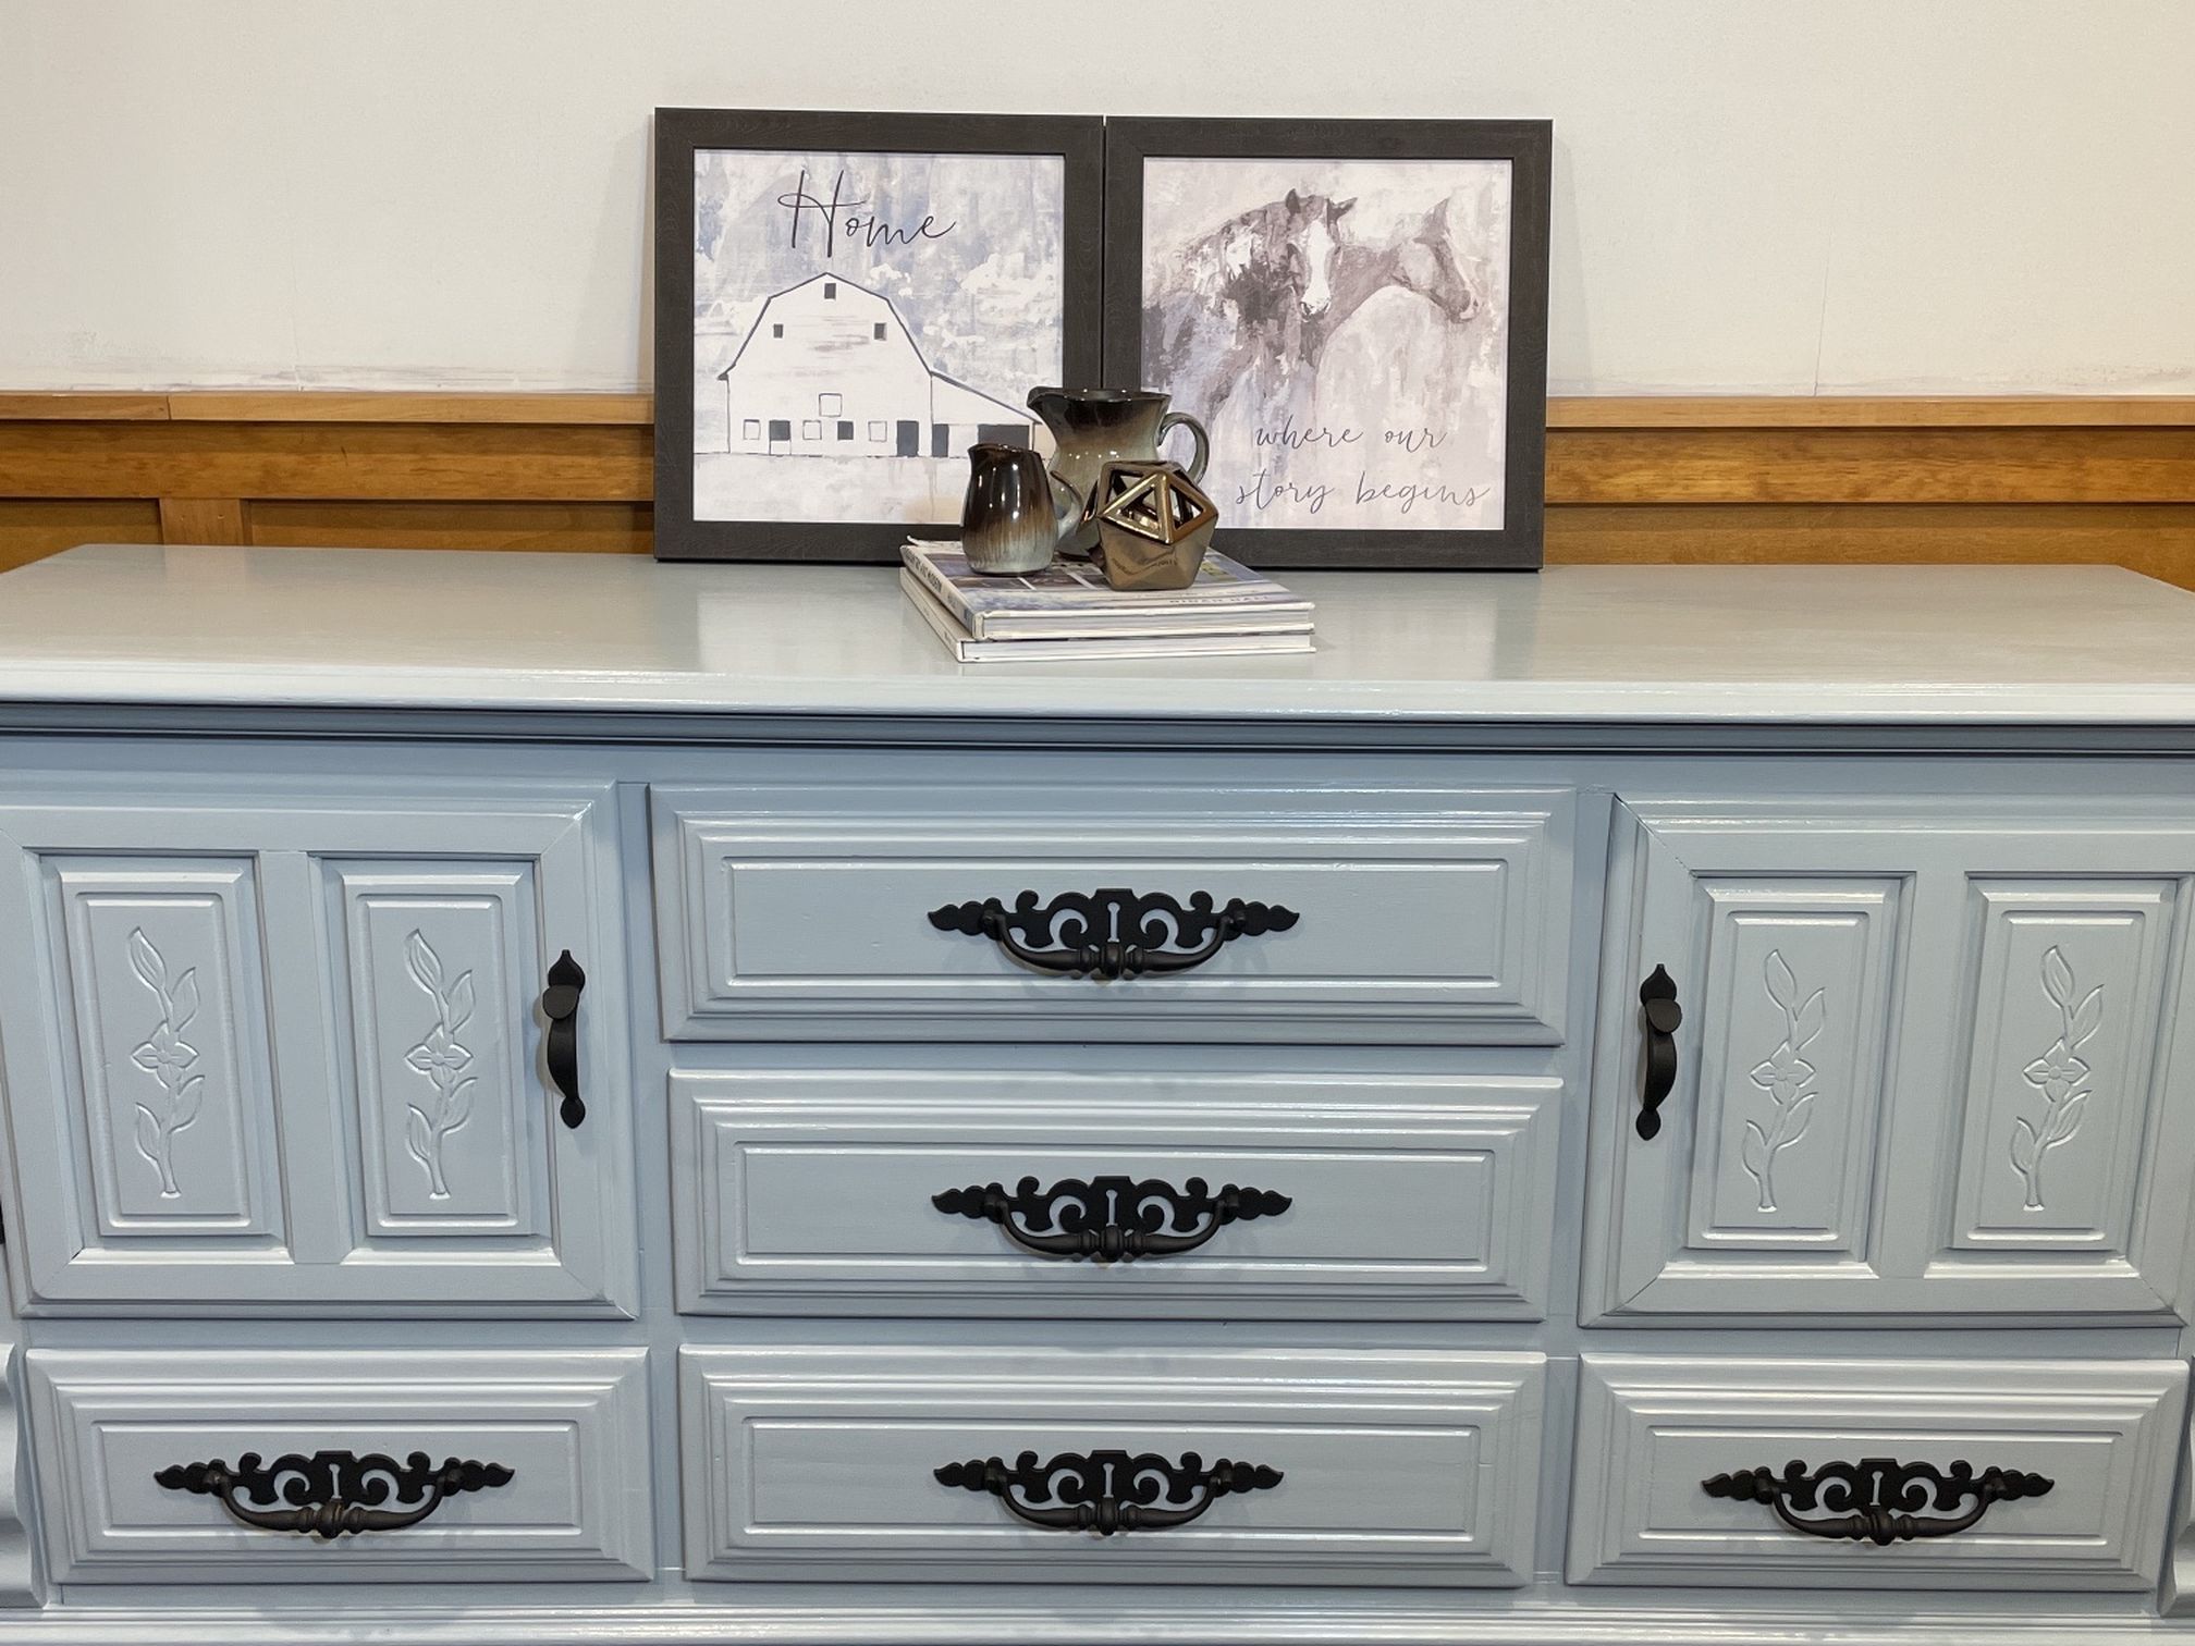
[{"label": "barn print reading Home, inside its dark frame", "polygon": [[1065,358],[1058,154],[694,154],[694,518],[959,518],[1043,448]]}]

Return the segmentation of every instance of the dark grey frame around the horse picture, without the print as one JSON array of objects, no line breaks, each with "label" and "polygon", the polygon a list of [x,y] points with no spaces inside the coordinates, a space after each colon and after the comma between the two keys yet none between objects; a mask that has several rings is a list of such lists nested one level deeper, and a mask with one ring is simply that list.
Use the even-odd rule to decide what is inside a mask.
[{"label": "dark grey frame around the horse picture, without the print", "polygon": [[[1547,237],[1552,121],[1106,121],[1104,367],[1113,386],[1144,375],[1144,167],[1214,160],[1508,160],[1508,367],[1501,525],[1490,529],[1348,529],[1227,525],[1234,489],[1214,452],[1207,489],[1216,544],[1251,566],[1532,571],[1543,560],[1547,446]],[[1172,391],[1166,382],[1141,384]],[[1177,410],[1201,408],[1177,397]]]}]

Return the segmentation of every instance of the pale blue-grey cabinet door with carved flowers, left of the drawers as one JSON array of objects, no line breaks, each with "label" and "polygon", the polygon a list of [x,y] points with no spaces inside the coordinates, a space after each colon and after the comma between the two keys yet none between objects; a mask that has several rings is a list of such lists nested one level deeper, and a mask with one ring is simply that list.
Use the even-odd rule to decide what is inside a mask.
[{"label": "pale blue-grey cabinet door with carved flowers, left of the drawers", "polygon": [[[599,803],[0,805],[29,1308],[626,1312]],[[564,950],[577,1130],[542,1060]]]}]

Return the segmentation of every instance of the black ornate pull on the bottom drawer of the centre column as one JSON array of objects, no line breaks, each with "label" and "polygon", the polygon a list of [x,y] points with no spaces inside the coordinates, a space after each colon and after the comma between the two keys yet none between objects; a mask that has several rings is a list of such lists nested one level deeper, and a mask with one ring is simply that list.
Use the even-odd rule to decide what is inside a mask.
[{"label": "black ornate pull on the bottom drawer of the centre column", "polygon": [[[1155,1451],[1062,1451],[1038,1464],[1034,1451],[1008,1468],[1001,1457],[972,1457],[937,1470],[939,1486],[990,1492],[1014,1519],[1054,1532],[1163,1532],[1187,1525],[1227,1492],[1264,1492],[1280,1470],[1220,1457],[1212,1468],[1194,1451],[1168,1462]],[[1163,1501],[1161,1501],[1163,1499]]]}]

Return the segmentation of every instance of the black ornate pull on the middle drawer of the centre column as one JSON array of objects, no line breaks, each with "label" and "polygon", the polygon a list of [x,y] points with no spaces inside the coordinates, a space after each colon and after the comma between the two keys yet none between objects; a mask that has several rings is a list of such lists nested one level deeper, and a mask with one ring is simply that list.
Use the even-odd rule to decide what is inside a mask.
[{"label": "black ornate pull on the middle drawer of the centre column", "polygon": [[1242,1190],[1234,1183],[1212,1194],[1201,1176],[1183,1187],[1163,1179],[1065,1176],[1049,1190],[1034,1176],[1008,1194],[1001,1183],[970,1183],[933,1194],[931,1205],[964,1218],[990,1218],[1023,1251],[1040,1258],[1172,1258],[1196,1251],[1220,1227],[1271,1218],[1295,1205],[1286,1194]]}]

